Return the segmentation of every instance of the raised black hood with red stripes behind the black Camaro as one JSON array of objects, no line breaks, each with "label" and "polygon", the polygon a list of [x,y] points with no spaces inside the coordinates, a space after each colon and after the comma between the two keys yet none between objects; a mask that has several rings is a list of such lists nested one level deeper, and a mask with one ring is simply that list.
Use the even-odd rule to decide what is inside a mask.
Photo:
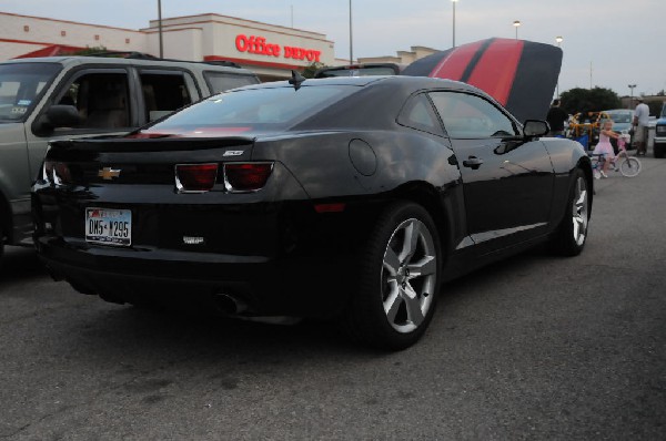
[{"label": "raised black hood with red stripes behind the black Camaro", "polygon": [[402,74],[472,84],[524,122],[546,119],[561,66],[562,50],[555,45],[487,39],[416,60]]}]

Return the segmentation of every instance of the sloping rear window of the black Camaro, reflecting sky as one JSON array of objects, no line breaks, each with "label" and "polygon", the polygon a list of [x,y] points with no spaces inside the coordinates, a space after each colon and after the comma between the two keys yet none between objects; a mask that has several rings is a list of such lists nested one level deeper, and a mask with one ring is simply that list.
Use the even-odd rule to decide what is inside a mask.
[{"label": "sloping rear window of the black Camaro, reflecting sky", "polygon": [[183,109],[143,134],[212,134],[287,129],[353,93],[355,86],[303,85],[272,89],[245,89],[213,95]]}]

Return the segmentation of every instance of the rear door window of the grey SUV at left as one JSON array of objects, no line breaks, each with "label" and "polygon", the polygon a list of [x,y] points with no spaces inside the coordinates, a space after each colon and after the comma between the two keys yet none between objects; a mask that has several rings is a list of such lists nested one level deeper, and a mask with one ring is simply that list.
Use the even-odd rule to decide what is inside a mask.
[{"label": "rear door window of the grey SUV at left", "polygon": [[149,121],[158,120],[190,104],[193,99],[183,72],[141,72],[141,89],[145,115]]}]

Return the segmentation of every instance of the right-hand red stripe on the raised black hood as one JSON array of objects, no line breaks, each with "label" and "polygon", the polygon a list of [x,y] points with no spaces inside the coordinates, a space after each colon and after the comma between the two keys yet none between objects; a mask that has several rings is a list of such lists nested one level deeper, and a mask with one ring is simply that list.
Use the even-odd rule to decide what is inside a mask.
[{"label": "right-hand red stripe on the raised black hood", "polygon": [[493,41],[478,60],[467,83],[485,91],[502,105],[506,105],[523,55],[523,48],[522,40]]}]

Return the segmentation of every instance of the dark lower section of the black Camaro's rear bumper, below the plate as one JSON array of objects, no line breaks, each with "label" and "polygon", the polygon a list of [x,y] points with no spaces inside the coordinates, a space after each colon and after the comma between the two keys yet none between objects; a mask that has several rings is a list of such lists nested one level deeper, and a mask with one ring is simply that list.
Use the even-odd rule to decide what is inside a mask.
[{"label": "dark lower section of the black Camaro's rear bumper, below the plate", "polygon": [[[77,246],[62,238],[36,239],[54,279],[114,301],[178,297],[188,302],[229,295],[251,316],[330,318],[349,299],[353,277],[342,256],[231,256],[176,250]],[[346,289],[345,289],[346,288]]]}]

